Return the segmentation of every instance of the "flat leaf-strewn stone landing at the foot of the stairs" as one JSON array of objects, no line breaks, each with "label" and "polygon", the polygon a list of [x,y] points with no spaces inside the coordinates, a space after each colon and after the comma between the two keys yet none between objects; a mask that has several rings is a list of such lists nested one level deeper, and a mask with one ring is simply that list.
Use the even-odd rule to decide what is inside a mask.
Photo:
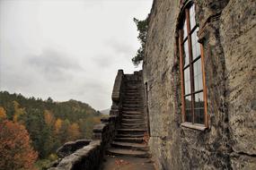
[{"label": "flat leaf-strewn stone landing at the foot of the stairs", "polygon": [[102,170],[155,170],[150,158],[105,156]]}]

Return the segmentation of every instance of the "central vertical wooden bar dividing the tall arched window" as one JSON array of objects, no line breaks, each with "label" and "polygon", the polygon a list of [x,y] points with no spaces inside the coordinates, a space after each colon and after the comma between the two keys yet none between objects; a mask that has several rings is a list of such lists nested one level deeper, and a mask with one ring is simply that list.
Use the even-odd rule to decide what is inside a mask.
[{"label": "central vertical wooden bar dividing the tall arched window", "polygon": [[193,74],[193,64],[192,64],[192,44],[191,44],[191,35],[190,35],[190,10],[186,9],[186,20],[187,20],[187,30],[188,30],[188,45],[189,45],[189,57],[190,57],[190,92],[191,92],[191,115],[192,123],[194,123],[194,101],[195,97],[194,92],[194,74]]}]

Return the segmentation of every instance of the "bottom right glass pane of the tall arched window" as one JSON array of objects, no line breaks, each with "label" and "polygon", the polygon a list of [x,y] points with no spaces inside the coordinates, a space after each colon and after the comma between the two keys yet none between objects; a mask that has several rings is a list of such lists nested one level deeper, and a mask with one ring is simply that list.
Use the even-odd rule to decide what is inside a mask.
[{"label": "bottom right glass pane of the tall arched window", "polygon": [[195,123],[204,123],[204,97],[203,92],[195,94]]}]

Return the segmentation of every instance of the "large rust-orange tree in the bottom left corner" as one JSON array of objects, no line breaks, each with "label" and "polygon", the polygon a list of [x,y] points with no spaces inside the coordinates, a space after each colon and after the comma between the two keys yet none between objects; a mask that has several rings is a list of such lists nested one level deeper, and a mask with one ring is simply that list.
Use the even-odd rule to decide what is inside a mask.
[{"label": "large rust-orange tree in the bottom left corner", "polygon": [[7,120],[0,122],[0,150],[1,169],[33,169],[38,157],[25,127]]}]

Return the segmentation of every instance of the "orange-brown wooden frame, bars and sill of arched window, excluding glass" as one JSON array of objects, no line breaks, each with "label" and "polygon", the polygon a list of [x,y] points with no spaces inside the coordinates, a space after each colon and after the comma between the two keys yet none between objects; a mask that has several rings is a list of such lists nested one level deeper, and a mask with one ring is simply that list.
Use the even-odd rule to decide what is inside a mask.
[{"label": "orange-brown wooden frame, bars and sill of arched window, excluding glass", "polygon": [[[193,59],[192,57],[192,42],[191,42],[191,36],[192,34],[197,30],[199,25],[196,23],[194,28],[190,28],[190,7],[193,5],[193,3],[187,4],[184,8],[184,11],[182,13],[181,17],[181,27],[179,29],[179,55],[180,55],[180,70],[181,70],[181,114],[182,114],[182,126],[192,128],[192,129],[198,129],[198,130],[205,130],[208,127],[208,117],[207,117],[207,88],[206,88],[206,76],[205,76],[205,59],[204,59],[204,49],[202,44],[200,44],[200,55],[195,57]],[[194,4],[195,5],[195,4]],[[186,21],[186,22],[185,22]],[[187,24],[187,38],[183,38],[183,24]],[[188,47],[189,47],[189,64],[184,65],[184,55],[183,55],[183,50],[182,46],[185,44],[185,41],[188,41]],[[194,89],[194,72],[193,72],[193,66],[194,63],[196,63],[199,58],[201,58],[201,71],[202,71],[202,85],[203,89],[200,89],[198,91],[195,91]],[[184,70],[186,68],[190,67],[190,93],[185,95],[185,83],[184,83]],[[195,101],[195,94],[203,92],[203,98],[204,98],[204,123],[194,123],[195,119],[195,106],[194,106],[194,101]],[[191,116],[192,116],[192,122],[186,122],[186,110],[185,110],[185,97],[190,96],[191,97]]]}]

